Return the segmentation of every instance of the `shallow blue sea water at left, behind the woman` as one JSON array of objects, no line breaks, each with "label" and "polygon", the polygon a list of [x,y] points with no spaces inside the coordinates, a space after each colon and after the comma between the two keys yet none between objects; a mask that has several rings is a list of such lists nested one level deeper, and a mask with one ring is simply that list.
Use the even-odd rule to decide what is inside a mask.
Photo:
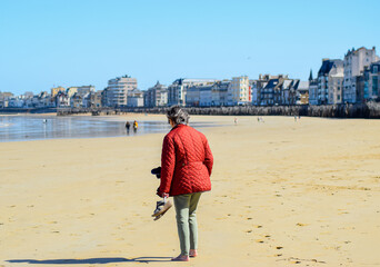
[{"label": "shallow blue sea water at left, behind the woman", "polygon": [[[133,130],[133,120],[107,116],[0,116],[0,142],[28,141],[62,138],[133,137],[139,135],[169,132],[171,127],[164,121],[138,121]],[[194,128],[209,127],[211,123],[191,123]]]}]

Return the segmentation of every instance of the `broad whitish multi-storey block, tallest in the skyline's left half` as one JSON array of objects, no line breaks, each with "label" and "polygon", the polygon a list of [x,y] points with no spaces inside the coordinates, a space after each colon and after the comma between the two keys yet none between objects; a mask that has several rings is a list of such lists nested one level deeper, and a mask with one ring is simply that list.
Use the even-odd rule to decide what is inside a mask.
[{"label": "broad whitish multi-storey block, tallest in the skyline's left half", "polygon": [[130,76],[117,77],[108,81],[104,89],[104,105],[108,107],[127,107],[128,92],[138,88],[136,78]]}]

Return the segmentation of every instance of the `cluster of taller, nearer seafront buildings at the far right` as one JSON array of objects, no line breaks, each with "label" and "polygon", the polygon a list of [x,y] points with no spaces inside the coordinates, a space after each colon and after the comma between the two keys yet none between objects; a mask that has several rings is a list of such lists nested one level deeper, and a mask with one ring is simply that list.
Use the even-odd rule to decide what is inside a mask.
[{"label": "cluster of taller, nearer seafront buildings at the far right", "polygon": [[318,76],[309,78],[309,103],[358,103],[378,99],[380,58],[376,48],[351,49],[343,59],[322,59]]}]

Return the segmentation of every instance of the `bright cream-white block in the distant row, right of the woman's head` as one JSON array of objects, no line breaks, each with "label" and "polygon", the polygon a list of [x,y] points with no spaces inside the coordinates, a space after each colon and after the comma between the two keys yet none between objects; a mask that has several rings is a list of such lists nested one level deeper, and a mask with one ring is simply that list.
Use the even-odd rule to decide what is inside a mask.
[{"label": "bright cream-white block in the distant row, right of the woman's head", "polygon": [[248,102],[251,102],[248,76],[232,77],[231,85],[228,89],[228,105],[234,106]]}]

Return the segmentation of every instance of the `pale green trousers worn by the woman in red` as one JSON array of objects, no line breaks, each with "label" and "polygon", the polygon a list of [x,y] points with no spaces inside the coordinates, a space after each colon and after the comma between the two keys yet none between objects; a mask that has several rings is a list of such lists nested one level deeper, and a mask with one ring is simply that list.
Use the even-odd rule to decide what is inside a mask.
[{"label": "pale green trousers worn by the woman in red", "polygon": [[181,255],[189,256],[190,249],[198,246],[197,206],[202,192],[174,196],[178,236]]}]

